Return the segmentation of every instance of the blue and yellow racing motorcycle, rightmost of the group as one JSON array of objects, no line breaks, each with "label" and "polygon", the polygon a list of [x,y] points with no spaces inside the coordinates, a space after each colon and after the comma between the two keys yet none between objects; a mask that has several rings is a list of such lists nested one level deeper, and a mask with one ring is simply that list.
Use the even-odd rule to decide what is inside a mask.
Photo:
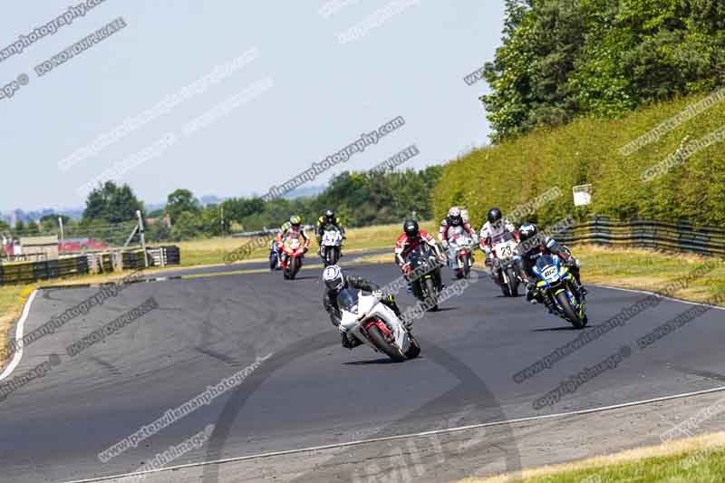
[{"label": "blue and yellow racing motorcycle, rightmost of the group", "polygon": [[586,317],[586,298],[561,257],[551,253],[542,254],[536,260],[534,273],[539,279],[536,288],[552,312],[576,329],[584,328],[589,322]]}]

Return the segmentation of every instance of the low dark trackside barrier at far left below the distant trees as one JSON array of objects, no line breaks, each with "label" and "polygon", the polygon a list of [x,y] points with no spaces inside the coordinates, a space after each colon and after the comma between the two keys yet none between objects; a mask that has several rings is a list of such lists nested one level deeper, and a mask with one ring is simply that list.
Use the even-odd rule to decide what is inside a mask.
[{"label": "low dark trackside barrier at far left below the distant trees", "polygon": [[[157,256],[149,257],[152,266],[180,264],[179,246],[161,246],[147,250],[150,254],[157,253]],[[159,264],[155,263],[157,258]],[[31,284],[37,280],[89,273],[110,273],[114,270],[133,270],[144,266],[143,250],[63,256],[58,260],[43,262],[9,263],[0,265],[0,285]]]}]

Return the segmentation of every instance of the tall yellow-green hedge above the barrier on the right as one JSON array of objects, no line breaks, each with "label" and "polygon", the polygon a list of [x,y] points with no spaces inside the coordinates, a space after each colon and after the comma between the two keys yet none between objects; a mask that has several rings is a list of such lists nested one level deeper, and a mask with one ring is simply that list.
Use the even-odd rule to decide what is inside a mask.
[{"label": "tall yellow-green hedge above the barrier on the right", "polygon": [[[433,191],[436,217],[452,205],[469,208],[478,228],[488,208],[510,210],[558,186],[556,198],[528,217],[540,224],[573,215],[693,221],[725,226],[725,142],[716,142],[650,182],[646,169],[683,143],[725,125],[725,101],[684,122],[629,156],[629,142],[683,112],[705,96],[691,96],[633,111],[623,119],[583,118],[554,130],[536,130],[517,140],[470,152],[451,161]],[[591,183],[593,203],[576,208],[572,187]]]}]

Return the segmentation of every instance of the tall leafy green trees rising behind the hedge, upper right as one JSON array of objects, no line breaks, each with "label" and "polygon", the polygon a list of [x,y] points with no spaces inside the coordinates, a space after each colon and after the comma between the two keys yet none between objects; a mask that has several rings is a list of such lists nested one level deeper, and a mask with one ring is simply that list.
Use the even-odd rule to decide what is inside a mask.
[{"label": "tall leafy green trees rising behind the hedge, upper right", "polygon": [[725,84],[720,0],[506,0],[481,97],[498,143]]}]

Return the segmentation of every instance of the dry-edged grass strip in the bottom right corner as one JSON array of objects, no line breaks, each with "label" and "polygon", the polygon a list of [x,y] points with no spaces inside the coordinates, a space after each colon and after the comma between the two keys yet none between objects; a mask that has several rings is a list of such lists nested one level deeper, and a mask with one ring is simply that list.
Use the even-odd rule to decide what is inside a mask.
[{"label": "dry-edged grass strip in the bottom right corner", "polygon": [[[677,440],[572,463],[526,469],[522,483],[720,483],[725,481],[725,434]],[[505,475],[467,478],[459,483],[498,483]]]}]

